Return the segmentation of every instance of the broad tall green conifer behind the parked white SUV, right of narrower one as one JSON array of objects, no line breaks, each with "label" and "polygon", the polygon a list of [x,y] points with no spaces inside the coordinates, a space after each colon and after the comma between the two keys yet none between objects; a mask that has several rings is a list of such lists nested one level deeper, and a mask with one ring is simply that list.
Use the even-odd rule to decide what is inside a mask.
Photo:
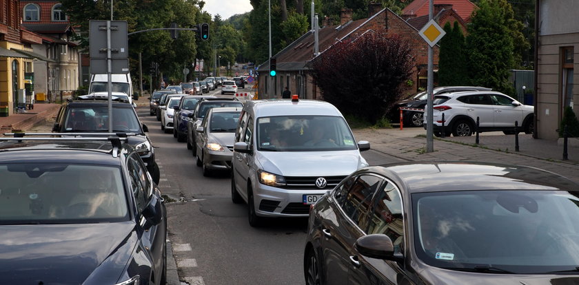
[{"label": "broad tall green conifer behind the parked white SUV, right of narrower one", "polygon": [[[512,10],[507,0],[481,0],[471,18],[466,39],[468,74],[472,85],[514,94],[509,84],[514,66],[513,37],[509,28]],[[512,18],[510,18],[512,19]]]}]

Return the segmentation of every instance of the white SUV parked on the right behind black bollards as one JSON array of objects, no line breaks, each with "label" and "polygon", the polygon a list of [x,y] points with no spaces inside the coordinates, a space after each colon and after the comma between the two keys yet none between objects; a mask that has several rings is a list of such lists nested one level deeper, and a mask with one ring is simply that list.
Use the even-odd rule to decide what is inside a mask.
[{"label": "white SUV parked on the right behind black bollards", "polygon": [[[433,125],[434,135],[442,133],[443,114],[445,115],[445,135],[470,136],[479,118],[479,133],[483,131],[502,131],[514,134],[515,122],[525,134],[534,129],[534,107],[522,105],[515,99],[500,92],[456,92],[434,96]],[[427,116],[425,114],[424,128]]]}]

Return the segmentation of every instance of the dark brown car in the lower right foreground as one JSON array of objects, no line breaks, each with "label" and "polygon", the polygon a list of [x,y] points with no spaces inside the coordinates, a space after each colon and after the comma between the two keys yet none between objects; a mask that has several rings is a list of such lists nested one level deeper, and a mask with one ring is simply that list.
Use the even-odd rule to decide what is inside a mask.
[{"label": "dark brown car in the lower right foreground", "polygon": [[309,213],[306,284],[579,284],[579,184],[482,162],[365,167]]}]

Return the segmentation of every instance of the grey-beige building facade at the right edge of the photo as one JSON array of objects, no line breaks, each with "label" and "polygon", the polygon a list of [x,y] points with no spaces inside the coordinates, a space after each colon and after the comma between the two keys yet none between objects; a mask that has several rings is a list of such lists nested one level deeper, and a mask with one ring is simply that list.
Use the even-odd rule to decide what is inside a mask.
[{"label": "grey-beige building facade at the right edge of the photo", "polygon": [[535,136],[556,140],[563,109],[579,117],[579,1],[536,4]]}]

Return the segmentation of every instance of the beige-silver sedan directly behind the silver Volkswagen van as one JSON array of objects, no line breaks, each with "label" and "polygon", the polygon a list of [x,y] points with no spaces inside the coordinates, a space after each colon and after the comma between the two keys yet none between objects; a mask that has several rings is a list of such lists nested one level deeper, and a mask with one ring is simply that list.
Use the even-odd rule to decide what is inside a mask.
[{"label": "beige-silver sedan directly behind the silver Volkswagen van", "polygon": [[218,107],[207,112],[196,131],[197,166],[203,169],[203,176],[210,176],[214,170],[231,169],[233,141],[239,107]]}]

